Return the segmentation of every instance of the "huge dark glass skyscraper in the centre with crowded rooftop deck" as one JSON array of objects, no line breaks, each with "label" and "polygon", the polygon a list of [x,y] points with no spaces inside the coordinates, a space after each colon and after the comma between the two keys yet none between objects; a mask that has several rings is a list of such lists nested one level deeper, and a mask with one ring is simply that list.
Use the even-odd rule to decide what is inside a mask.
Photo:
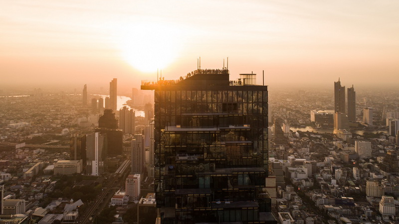
[{"label": "huge dark glass skyscraper in the centre with crowded rooftop deck", "polygon": [[161,223],[268,223],[267,86],[226,69],[159,80],[155,192]]}]

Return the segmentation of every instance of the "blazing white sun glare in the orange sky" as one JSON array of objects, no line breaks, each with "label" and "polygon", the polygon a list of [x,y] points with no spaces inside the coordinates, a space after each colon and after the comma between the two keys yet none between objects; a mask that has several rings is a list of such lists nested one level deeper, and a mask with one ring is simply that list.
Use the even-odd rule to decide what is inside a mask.
[{"label": "blazing white sun glare in the orange sky", "polygon": [[115,37],[124,60],[142,72],[165,68],[183,45],[182,32],[170,24],[133,24],[119,30]]}]

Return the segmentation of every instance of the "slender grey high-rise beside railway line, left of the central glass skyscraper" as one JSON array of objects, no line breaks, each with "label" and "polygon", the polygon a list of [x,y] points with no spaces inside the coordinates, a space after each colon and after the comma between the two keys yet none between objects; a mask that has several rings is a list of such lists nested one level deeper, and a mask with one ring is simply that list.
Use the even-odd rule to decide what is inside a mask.
[{"label": "slender grey high-rise beside railway line, left of the central glass skyscraper", "polygon": [[132,174],[142,174],[145,159],[143,135],[135,134],[131,144]]}]

